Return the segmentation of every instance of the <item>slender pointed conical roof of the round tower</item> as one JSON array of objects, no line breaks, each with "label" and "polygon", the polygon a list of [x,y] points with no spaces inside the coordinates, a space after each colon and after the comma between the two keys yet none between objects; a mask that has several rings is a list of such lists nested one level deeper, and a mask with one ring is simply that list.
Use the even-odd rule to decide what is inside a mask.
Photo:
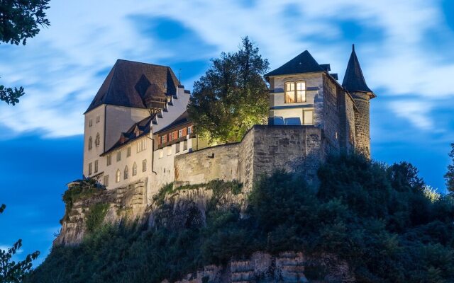
[{"label": "slender pointed conical roof of the round tower", "polygon": [[358,61],[358,57],[356,57],[355,53],[355,45],[353,45],[352,54],[348,60],[348,66],[345,71],[345,76],[343,77],[342,86],[349,92],[362,91],[373,94],[367,86],[364,76],[362,75],[360,62]]}]

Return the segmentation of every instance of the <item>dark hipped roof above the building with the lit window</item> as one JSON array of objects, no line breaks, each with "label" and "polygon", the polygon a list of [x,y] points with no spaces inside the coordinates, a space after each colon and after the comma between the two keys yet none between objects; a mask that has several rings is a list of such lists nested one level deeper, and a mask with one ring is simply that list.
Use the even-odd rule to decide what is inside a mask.
[{"label": "dark hipped roof above the building with the lit window", "polygon": [[[328,64],[323,64],[324,68],[327,68]],[[315,73],[319,71],[326,71],[316,62],[314,57],[309,53],[309,51],[304,51],[299,54],[297,57],[294,57],[289,62],[283,64],[281,67],[270,71],[270,73],[265,74],[265,77],[268,76],[279,76],[279,75],[288,75],[288,74],[302,74],[302,73]]]}]

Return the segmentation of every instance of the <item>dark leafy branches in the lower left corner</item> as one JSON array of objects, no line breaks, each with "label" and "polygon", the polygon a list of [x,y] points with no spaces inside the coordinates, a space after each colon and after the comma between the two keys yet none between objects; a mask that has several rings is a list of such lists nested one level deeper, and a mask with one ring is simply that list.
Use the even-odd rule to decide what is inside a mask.
[{"label": "dark leafy branches in the lower left corner", "polygon": [[[1,204],[0,214],[4,212],[5,208],[5,204]],[[12,248],[0,250],[0,282],[22,282],[23,278],[31,271],[31,262],[38,258],[40,252],[35,251],[27,255],[25,260],[19,262],[11,260],[21,247],[22,240],[19,239]]]}]

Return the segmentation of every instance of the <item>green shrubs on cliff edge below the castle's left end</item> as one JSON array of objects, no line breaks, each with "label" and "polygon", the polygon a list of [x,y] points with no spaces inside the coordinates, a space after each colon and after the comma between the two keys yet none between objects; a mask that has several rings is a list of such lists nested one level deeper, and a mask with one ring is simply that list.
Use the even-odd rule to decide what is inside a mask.
[{"label": "green shrubs on cliff edge below the castle's left end", "polygon": [[99,184],[95,179],[79,180],[77,185],[73,185],[63,194],[63,202],[65,202],[65,216],[62,221],[68,220],[74,202],[79,200],[87,200],[93,195],[99,194],[106,190],[106,187]]}]

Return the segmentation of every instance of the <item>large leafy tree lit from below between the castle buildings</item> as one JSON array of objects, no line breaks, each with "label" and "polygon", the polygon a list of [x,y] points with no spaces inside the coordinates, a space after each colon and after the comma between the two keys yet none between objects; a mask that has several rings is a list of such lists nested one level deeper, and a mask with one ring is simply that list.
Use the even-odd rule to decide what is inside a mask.
[{"label": "large leafy tree lit from below between the castle buildings", "polygon": [[238,52],[221,53],[204,76],[194,83],[188,105],[198,134],[211,142],[239,141],[255,124],[267,120],[268,69],[258,47],[243,37]]}]

